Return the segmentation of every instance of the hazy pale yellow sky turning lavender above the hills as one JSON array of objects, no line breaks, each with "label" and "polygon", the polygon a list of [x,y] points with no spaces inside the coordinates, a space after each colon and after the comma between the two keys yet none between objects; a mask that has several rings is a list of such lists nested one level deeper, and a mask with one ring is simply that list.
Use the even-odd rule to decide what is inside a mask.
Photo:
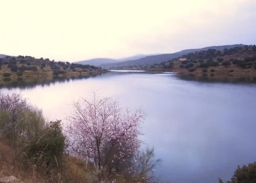
[{"label": "hazy pale yellow sky turning lavender above the hills", "polygon": [[78,61],[256,44],[256,0],[0,0],[0,54]]}]

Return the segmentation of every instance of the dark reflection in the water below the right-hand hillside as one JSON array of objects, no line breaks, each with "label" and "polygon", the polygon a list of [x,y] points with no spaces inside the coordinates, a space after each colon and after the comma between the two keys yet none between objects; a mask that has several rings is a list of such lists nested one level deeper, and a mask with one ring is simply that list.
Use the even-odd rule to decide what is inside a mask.
[{"label": "dark reflection in the water below the right-hand hillside", "polygon": [[177,74],[176,77],[188,81],[209,83],[256,83],[256,77],[253,75]]}]

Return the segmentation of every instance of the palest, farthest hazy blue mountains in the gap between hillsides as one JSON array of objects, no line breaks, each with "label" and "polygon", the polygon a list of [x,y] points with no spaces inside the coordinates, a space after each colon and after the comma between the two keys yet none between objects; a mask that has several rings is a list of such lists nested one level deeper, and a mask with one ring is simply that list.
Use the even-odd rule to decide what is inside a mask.
[{"label": "palest, farthest hazy blue mountains in the gap between hillsides", "polygon": [[117,63],[117,62],[125,62],[127,60],[137,60],[140,58],[148,57],[151,55],[161,55],[161,53],[156,53],[156,54],[149,54],[149,55],[144,55],[144,54],[139,54],[139,55],[134,55],[131,57],[125,57],[125,58],[119,58],[119,59],[112,59],[112,58],[93,58],[90,60],[82,60],[78,62],[74,62],[77,64],[88,64],[88,65],[93,65],[93,66],[99,66],[101,64],[110,64],[110,63]]}]

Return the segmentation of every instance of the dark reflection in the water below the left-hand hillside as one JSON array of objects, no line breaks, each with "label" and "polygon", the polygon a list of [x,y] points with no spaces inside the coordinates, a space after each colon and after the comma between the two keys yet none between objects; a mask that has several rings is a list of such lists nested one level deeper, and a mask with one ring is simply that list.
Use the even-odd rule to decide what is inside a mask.
[{"label": "dark reflection in the water below the left-hand hillside", "polygon": [[99,75],[77,75],[77,76],[70,76],[70,77],[44,77],[44,78],[38,78],[38,77],[26,77],[26,78],[17,78],[17,79],[10,79],[10,78],[4,78],[3,80],[0,80],[0,89],[1,88],[20,88],[20,89],[26,89],[26,88],[34,88],[37,85],[49,86],[51,84],[55,83],[67,83],[76,79],[85,79],[89,77],[97,77]]}]

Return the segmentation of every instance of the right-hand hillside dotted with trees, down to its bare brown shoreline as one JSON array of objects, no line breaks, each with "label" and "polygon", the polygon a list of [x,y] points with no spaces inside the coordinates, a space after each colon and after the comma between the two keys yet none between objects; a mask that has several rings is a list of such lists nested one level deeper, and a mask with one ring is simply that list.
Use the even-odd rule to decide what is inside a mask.
[{"label": "right-hand hillside dotted with trees, down to its bare brown shoreline", "polygon": [[[181,61],[180,58],[185,59]],[[131,69],[172,71],[180,74],[256,74],[256,45],[233,47],[223,51],[208,49],[188,53],[180,58]]]}]

